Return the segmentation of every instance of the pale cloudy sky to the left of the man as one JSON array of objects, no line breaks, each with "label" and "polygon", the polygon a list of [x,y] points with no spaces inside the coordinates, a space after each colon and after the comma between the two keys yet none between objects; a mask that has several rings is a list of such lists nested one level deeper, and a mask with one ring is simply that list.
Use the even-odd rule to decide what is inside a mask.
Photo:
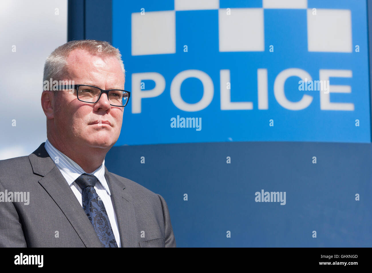
[{"label": "pale cloudy sky to the left of the man", "polygon": [[47,139],[44,62],[67,42],[67,0],[1,0],[0,37],[2,160],[29,155]]}]

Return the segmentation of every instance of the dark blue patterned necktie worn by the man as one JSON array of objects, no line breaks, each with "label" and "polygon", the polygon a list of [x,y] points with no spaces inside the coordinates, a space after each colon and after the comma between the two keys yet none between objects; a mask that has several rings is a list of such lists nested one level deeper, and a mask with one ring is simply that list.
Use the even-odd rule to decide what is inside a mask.
[{"label": "dark blue patterned necktie worn by the man", "polygon": [[90,222],[92,222],[103,247],[118,247],[105,205],[103,205],[101,198],[94,189],[97,181],[96,176],[87,173],[83,173],[75,180],[81,188],[83,209]]}]

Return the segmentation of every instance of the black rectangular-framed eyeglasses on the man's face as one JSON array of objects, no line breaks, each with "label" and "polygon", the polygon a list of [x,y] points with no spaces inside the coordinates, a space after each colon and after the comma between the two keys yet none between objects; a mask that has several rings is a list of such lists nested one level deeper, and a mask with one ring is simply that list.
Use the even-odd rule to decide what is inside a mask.
[{"label": "black rectangular-framed eyeglasses on the man's face", "polygon": [[57,90],[68,90],[70,93],[72,93],[72,90],[76,90],[77,99],[84,103],[96,103],[99,101],[102,93],[105,93],[110,105],[118,107],[125,107],[131,96],[131,92],[129,91],[120,89],[103,90],[96,86],[84,84],[60,85]]}]

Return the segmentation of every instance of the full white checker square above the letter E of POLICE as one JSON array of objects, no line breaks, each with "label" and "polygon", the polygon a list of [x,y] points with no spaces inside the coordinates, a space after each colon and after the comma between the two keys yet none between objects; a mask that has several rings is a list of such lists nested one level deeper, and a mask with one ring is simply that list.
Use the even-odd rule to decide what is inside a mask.
[{"label": "full white checker square above the letter E of POLICE", "polygon": [[308,51],[352,52],[351,11],[308,9],[307,40]]}]

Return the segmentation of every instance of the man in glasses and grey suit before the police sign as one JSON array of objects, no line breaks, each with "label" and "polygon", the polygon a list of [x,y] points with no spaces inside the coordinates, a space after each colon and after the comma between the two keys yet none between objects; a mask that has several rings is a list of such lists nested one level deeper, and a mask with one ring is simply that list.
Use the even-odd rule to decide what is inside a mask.
[{"label": "man in glasses and grey suit before the police sign", "polygon": [[45,62],[49,79],[73,83],[42,92],[46,142],[0,161],[0,247],[176,247],[164,198],[105,166],[130,97],[118,49],[65,43]]}]

